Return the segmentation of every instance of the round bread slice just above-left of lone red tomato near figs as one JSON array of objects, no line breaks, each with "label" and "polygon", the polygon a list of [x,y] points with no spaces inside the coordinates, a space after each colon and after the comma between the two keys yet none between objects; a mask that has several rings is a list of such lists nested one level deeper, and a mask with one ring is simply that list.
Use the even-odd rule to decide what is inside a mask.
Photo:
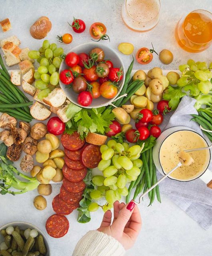
[{"label": "round bread slice just above-left of lone red tomato near figs", "polygon": [[46,120],[52,112],[39,102],[34,102],[30,108],[30,114],[36,120]]}]

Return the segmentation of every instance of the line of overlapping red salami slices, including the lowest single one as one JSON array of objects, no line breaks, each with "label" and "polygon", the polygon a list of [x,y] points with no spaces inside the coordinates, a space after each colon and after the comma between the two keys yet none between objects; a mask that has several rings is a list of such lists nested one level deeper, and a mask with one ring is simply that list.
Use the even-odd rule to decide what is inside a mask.
[{"label": "line of overlapping red salami slices, including the lowest single one", "polygon": [[63,134],[61,143],[65,152],[63,184],[60,194],[52,201],[52,208],[56,214],[50,216],[46,222],[46,230],[54,238],[62,237],[68,232],[69,223],[65,215],[80,206],[79,202],[86,188],[83,180],[87,168],[96,168],[101,160],[100,147],[85,143],[77,132],[71,135]]}]

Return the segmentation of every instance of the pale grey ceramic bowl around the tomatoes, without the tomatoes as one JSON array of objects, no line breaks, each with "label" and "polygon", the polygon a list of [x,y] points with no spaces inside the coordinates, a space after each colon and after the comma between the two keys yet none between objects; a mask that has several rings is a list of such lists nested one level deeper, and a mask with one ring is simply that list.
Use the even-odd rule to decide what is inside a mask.
[{"label": "pale grey ceramic bowl around the tomatoes, without the tomatoes", "polygon": [[[79,54],[81,52],[85,52],[86,54],[89,54],[89,52],[95,47],[99,47],[99,48],[102,48],[102,50],[104,50],[105,59],[111,60],[114,64],[114,68],[120,68],[120,67],[123,68],[123,78],[119,82],[119,91],[121,91],[122,87],[124,85],[124,80],[125,80],[124,63],[122,62],[122,60],[120,59],[118,54],[112,48],[110,48],[104,44],[100,44],[100,43],[96,43],[96,42],[88,42],[88,43],[80,44],[74,48],[70,48],[69,52],[76,52],[77,54]],[[66,68],[68,68],[68,66],[66,65],[64,60],[62,60],[60,69],[59,69],[59,73]],[[60,87],[62,88],[62,90],[64,90],[66,97],[71,102],[82,107],[77,102],[78,94],[76,92],[74,92],[73,89],[70,88],[70,86],[67,86],[66,84],[63,84],[62,82],[60,82]],[[118,94],[119,94],[119,92],[118,92]],[[97,99],[93,99],[92,104],[90,106],[83,107],[83,108],[99,108],[102,106],[108,106],[111,102],[113,102],[115,100],[115,98],[118,96],[118,94],[112,99],[106,99],[106,98],[103,98],[102,96],[100,96]]]}]

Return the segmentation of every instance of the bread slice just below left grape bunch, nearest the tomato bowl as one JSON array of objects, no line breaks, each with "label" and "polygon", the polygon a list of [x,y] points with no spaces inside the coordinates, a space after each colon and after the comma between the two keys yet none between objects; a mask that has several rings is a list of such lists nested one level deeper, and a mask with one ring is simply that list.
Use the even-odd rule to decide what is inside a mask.
[{"label": "bread slice just below left grape bunch, nearest the tomato bowl", "polygon": [[60,88],[55,88],[47,97],[43,98],[43,102],[54,108],[62,106],[65,101],[66,94]]}]

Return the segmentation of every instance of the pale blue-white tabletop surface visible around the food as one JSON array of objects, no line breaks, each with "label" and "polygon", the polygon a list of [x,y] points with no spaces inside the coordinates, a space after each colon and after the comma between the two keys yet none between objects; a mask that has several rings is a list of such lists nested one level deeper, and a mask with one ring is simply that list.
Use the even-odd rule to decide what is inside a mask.
[{"label": "pale blue-white tabletop surface visible around the food", "polygon": [[[30,36],[31,24],[40,16],[48,16],[52,22],[52,30],[46,39],[56,41],[57,35],[70,32],[74,39],[71,45],[63,45],[65,52],[71,50],[82,42],[90,41],[89,26],[99,21],[106,24],[110,40],[104,44],[117,49],[120,42],[131,42],[135,51],[142,47],[150,47],[153,42],[155,49],[160,52],[163,48],[170,49],[174,54],[174,61],[169,66],[164,66],[155,55],[153,61],[145,69],[160,66],[164,69],[176,69],[179,64],[184,64],[187,59],[199,61],[212,61],[210,47],[205,52],[190,54],[181,50],[174,39],[174,28],[181,15],[195,9],[212,11],[211,0],[162,0],[160,22],[150,32],[136,33],[124,26],[121,19],[121,6],[123,0],[0,0],[0,20],[10,18],[13,29],[6,34],[0,31],[0,38],[15,34],[21,40],[21,47],[37,49],[41,41]],[[72,17],[82,18],[87,25],[83,34],[74,34],[67,24]],[[58,43],[59,44],[59,43]],[[130,56],[120,54],[127,68],[131,62]],[[135,69],[143,68],[135,64]],[[53,192],[47,197],[48,207],[38,212],[33,206],[36,191],[19,196],[0,196],[0,225],[7,222],[22,220],[31,222],[45,232],[46,219],[53,214],[51,202],[58,194],[59,186],[54,185]],[[212,228],[205,231],[185,212],[175,206],[165,195],[162,195],[162,204],[154,203],[147,208],[147,202],[139,206],[143,227],[135,246],[126,255],[147,256],[209,256],[212,252]],[[76,221],[77,212],[74,211],[68,220],[70,230],[60,239],[49,237],[52,246],[52,256],[72,255],[78,240],[88,231],[98,228],[102,219],[99,210],[92,216],[88,224],[79,224]]]}]

